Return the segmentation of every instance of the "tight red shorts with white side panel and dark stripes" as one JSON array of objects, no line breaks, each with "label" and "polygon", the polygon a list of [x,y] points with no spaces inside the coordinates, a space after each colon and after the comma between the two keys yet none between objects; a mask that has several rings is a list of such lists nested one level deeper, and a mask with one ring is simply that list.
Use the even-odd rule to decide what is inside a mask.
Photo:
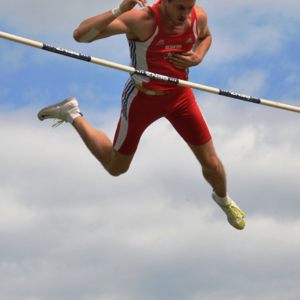
[{"label": "tight red shorts with white side panel and dark stripes", "polygon": [[163,96],[139,91],[129,79],[122,95],[122,110],[113,139],[118,152],[134,154],[143,131],[155,120],[167,118],[181,137],[192,145],[211,139],[191,88],[178,86]]}]

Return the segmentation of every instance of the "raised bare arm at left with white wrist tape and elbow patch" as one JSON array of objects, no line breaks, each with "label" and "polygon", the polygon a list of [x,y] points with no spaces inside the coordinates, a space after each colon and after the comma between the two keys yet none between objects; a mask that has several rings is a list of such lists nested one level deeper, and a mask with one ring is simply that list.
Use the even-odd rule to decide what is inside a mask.
[{"label": "raised bare arm at left with white wrist tape and elbow patch", "polygon": [[[115,18],[111,10],[93,16],[81,22],[74,30],[74,39],[78,42],[92,42],[115,34],[125,33],[131,39],[146,39],[155,26],[155,16],[146,8],[147,0],[123,0],[120,4],[124,12]],[[143,9],[133,7],[138,4]]]}]

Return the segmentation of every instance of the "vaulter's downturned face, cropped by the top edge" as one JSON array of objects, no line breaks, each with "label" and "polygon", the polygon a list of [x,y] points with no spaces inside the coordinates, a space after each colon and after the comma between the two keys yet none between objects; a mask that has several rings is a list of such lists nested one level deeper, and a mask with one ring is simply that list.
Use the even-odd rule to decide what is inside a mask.
[{"label": "vaulter's downturned face, cropped by the top edge", "polygon": [[166,15],[174,25],[183,26],[195,4],[196,0],[165,0]]}]

